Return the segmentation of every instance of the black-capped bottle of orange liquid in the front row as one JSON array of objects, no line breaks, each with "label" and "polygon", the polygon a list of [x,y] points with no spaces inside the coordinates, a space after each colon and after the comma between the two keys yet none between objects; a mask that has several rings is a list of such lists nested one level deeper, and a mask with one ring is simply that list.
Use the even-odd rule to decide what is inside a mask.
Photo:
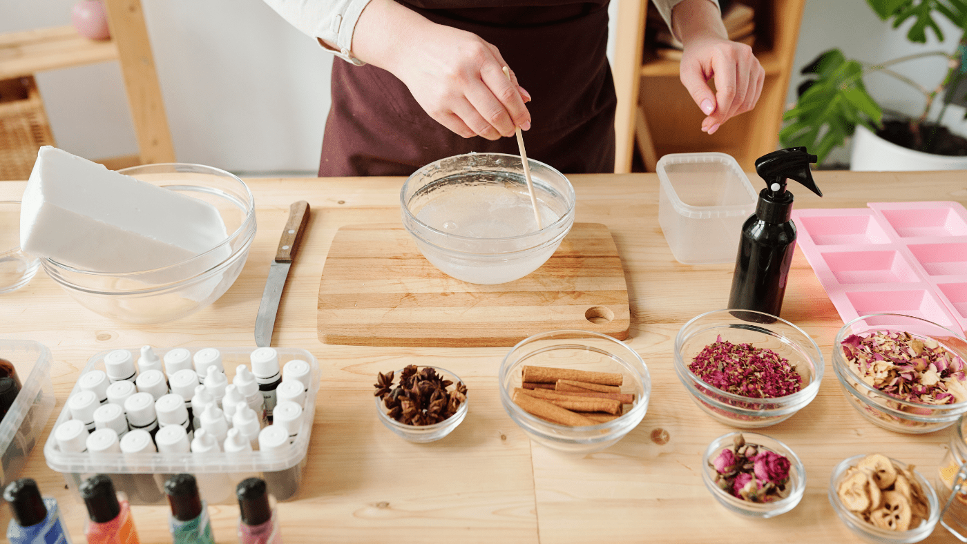
[{"label": "black-capped bottle of orange liquid in the front row", "polygon": [[131,506],[127,499],[118,498],[111,478],[104,474],[87,478],[79,491],[87,506],[87,544],[139,544]]}]

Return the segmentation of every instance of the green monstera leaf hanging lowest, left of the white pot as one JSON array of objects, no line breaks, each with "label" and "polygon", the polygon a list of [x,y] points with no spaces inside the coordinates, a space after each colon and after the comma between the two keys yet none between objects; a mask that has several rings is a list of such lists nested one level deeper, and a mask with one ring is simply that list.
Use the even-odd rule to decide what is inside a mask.
[{"label": "green monstera leaf hanging lowest, left of the white pot", "polygon": [[806,146],[822,163],[857,125],[876,130],[873,126],[880,124],[883,111],[866,93],[860,63],[847,60],[839,49],[830,49],[803,73],[813,77],[800,87],[796,107],[782,117],[790,122],[779,131],[782,147]]}]

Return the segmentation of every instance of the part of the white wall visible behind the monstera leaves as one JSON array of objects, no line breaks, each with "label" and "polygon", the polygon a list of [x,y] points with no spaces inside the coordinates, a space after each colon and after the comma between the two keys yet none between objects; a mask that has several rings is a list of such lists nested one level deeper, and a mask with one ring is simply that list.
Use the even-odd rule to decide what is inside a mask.
[{"label": "part of the white wall visible behind the monstera leaves", "polygon": [[[906,39],[907,29],[913,24],[907,21],[899,29],[893,29],[892,22],[883,22],[873,13],[864,0],[806,0],[803,24],[796,48],[795,72],[789,82],[787,102],[796,100],[796,88],[803,81],[799,71],[819,53],[838,47],[848,59],[876,64],[922,51],[943,50],[952,52],[960,39],[961,32],[942,17],[935,17],[944,31],[946,45],[937,43],[932,32],[927,33],[927,43],[910,43]],[[931,57],[897,64],[892,67],[932,89],[939,84],[947,73],[947,61],[942,57]],[[905,83],[901,83],[882,73],[872,73],[864,78],[866,90],[884,108],[891,108],[906,114],[920,114],[925,100],[923,95]],[[935,100],[931,113],[939,112],[940,99]],[[951,106],[944,122],[955,132],[967,134],[967,123],[963,121],[964,110]],[[931,117],[932,118],[932,117]],[[830,161],[847,162],[848,145],[832,154]]]}]

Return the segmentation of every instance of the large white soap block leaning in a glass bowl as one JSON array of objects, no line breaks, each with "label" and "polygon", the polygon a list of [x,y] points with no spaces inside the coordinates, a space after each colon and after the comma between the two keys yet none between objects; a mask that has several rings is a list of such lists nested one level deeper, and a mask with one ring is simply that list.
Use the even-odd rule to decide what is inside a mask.
[{"label": "large white soap block leaning in a glass bowl", "polygon": [[41,148],[20,206],[25,252],[92,272],[159,269],[225,238],[207,202],[50,146]]}]

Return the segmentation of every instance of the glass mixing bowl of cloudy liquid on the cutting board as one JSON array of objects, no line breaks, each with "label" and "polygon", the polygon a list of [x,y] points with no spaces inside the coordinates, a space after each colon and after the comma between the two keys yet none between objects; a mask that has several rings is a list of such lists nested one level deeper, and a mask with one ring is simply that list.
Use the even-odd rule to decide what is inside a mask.
[{"label": "glass mixing bowl of cloudy liquid on the cutting board", "polygon": [[[481,284],[506,283],[538,270],[571,230],[574,188],[554,168],[533,159],[528,164],[547,219],[532,232],[524,226],[533,221],[533,208],[520,157],[471,153],[441,158],[414,172],[399,191],[399,202],[403,226],[426,260],[456,279]],[[522,215],[502,216],[512,208]],[[474,230],[501,237],[466,236]]]}]

